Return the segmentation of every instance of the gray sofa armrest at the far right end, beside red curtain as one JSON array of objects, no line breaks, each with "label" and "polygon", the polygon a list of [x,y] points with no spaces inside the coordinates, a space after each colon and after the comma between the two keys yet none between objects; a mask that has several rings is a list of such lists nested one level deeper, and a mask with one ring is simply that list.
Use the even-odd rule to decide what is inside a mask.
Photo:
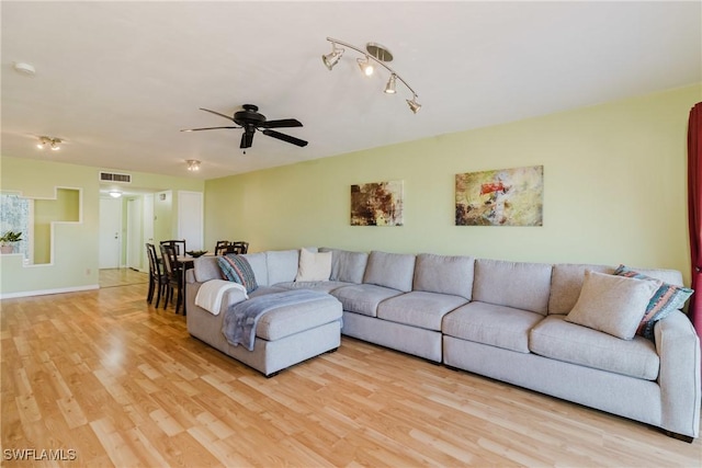
[{"label": "gray sofa armrest at the far right end, beside red curtain", "polygon": [[700,339],[679,310],[656,323],[656,351],[660,357],[660,425],[698,437],[700,433]]}]

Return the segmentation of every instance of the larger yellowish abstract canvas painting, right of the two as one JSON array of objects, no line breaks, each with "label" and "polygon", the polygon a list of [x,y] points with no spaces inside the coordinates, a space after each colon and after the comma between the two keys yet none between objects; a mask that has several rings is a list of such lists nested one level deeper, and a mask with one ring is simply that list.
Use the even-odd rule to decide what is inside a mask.
[{"label": "larger yellowish abstract canvas painting, right of the two", "polygon": [[456,226],[543,226],[544,167],[456,174]]}]

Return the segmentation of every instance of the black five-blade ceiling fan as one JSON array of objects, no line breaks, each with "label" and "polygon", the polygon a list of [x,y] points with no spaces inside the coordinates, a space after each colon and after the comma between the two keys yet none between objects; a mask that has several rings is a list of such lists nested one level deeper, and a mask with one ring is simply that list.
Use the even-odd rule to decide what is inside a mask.
[{"label": "black five-blade ceiling fan", "polygon": [[210,112],[211,114],[219,115],[228,121],[234,122],[239,125],[227,126],[227,127],[205,127],[205,128],[190,128],[181,132],[200,132],[200,130],[214,130],[218,128],[244,128],[244,135],[241,135],[241,145],[239,148],[246,149],[251,148],[253,144],[253,134],[256,130],[261,132],[263,135],[276,138],[279,140],[283,140],[285,142],[290,142],[299,147],[307,146],[307,141],[302,140],[299,138],[292,137],[290,135],[281,134],[280,132],[272,130],[271,128],[287,128],[287,127],[302,127],[303,124],[295,118],[282,118],[280,121],[267,121],[265,115],[259,114],[258,105],[253,104],[244,104],[244,111],[238,111],[234,113],[234,117],[229,117],[228,115],[220,114],[215,111],[211,111],[208,109],[202,109],[201,111]]}]

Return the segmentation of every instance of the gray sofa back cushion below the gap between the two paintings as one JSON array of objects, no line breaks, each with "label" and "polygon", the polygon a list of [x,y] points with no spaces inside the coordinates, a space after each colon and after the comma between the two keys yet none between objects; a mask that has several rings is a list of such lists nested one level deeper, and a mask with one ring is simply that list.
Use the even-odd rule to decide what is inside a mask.
[{"label": "gray sofa back cushion below the gap between the two paintings", "polygon": [[412,289],[451,294],[471,300],[474,266],[472,256],[420,253],[415,264]]}]

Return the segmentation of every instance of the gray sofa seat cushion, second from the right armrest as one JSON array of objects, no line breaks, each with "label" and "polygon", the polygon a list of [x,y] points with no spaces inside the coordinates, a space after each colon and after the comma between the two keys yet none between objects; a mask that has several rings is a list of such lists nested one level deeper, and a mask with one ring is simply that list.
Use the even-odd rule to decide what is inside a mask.
[{"label": "gray sofa seat cushion, second from the right armrest", "polygon": [[443,334],[529,353],[529,330],[543,320],[541,313],[487,303],[471,303],[443,318]]}]

